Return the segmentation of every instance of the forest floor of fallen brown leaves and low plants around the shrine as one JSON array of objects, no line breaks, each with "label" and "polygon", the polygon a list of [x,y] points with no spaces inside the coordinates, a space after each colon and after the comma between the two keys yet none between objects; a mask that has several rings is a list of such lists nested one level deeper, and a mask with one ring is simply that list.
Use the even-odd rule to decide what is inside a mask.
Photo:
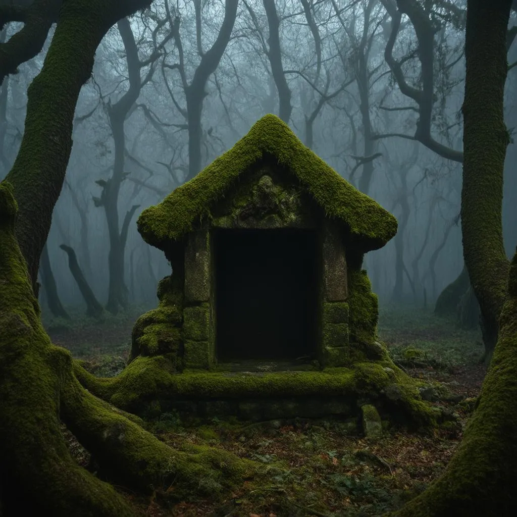
[{"label": "forest floor of fallen brown leaves and low plants around the shrine", "polygon": [[[99,376],[116,375],[129,354],[131,329],[142,311],[107,317],[103,324],[74,318],[45,321],[56,345],[94,364]],[[126,493],[142,515],[161,517],[358,517],[382,515],[401,507],[443,471],[458,446],[478,396],[484,368],[478,330],[462,330],[430,310],[408,307],[379,311],[379,337],[393,360],[409,375],[442,383],[453,395],[446,406],[451,421],[432,435],[391,428],[372,442],[346,433],[336,420],[275,420],[247,427],[245,422],[183,422],[163,414],[151,430],[172,447],[210,445],[270,467],[269,482],[244,481],[231,494],[178,500],[168,495]],[[246,428],[246,431],[245,431]],[[65,432],[74,457],[84,466],[87,453]],[[272,467],[272,468],[271,468]]]}]

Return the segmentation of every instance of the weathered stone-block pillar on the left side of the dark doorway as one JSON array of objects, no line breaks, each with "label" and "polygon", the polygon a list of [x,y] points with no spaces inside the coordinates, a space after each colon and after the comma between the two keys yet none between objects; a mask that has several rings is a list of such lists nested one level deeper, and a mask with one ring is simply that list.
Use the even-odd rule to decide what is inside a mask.
[{"label": "weathered stone-block pillar on the left side of the dark doorway", "polygon": [[191,232],[185,246],[183,341],[185,368],[214,364],[214,331],[210,315],[210,234]]}]

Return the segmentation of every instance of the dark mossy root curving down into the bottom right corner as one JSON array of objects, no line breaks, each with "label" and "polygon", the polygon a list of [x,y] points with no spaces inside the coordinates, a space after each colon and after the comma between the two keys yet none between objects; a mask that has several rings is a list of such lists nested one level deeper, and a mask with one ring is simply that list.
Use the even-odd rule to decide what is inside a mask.
[{"label": "dark mossy root curving down into the bottom right corner", "polygon": [[393,517],[513,515],[517,504],[517,253],[479,405],[445,473]]}]

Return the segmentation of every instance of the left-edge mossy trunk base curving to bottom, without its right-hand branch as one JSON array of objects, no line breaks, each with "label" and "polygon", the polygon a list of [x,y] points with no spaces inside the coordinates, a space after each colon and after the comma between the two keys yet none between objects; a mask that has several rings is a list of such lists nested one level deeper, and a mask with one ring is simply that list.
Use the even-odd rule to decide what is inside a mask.
[{"label": "left-edge mossy trunk base curving to bottom, without its right-hand branch", "polygon": [[[70,457],[58,418],[62,371],[14,237],[17,204],[0,183],[0,479],[6,514],[134,515]],[[61,355],[59,357],[66,357]],[[57,357],[57,359],[59,359]],[[68,356],[69,357],[69,356]],[[47,512],[45,512],[47,510]]]}]

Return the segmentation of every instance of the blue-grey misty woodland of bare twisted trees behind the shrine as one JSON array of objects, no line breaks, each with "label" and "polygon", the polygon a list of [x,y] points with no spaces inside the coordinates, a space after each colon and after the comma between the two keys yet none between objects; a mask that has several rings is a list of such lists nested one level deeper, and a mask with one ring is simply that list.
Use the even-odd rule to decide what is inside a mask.
[{"label": "blue-grey misty woodland of bare twisted trees behind the shrine", "polygon": [[[140,212],[231,148],[258,118],[275,113],[397,217],[397,236],[368,253],[363,264],[381,303],[431,306],[463,268],[466,2],[420,2],[425,23],[417,28],[421,38],[424,29],[431,31],[431,48],[419,42],[406,14],[395,23],[391,0],[241,0],[229,31],[230,4],[237,2],[159,0],[103,39],[77,105],[66,183],[47,242],[61,301],[83,304],[59,246],[75,250],[104,304],[108,254],[126,220],[129,302],[154,306],[157,283],[170,266],[136,231]],[[1,41],[19,28],[7,25]],[[16,158],[27,87],[42,67],[52,33],[43,51],[2,85],[0,179]],[[510,64],[517,60],[511,43]],[[511,134],[517,127],[516,73],[510,70],[505,92]],[[512,142],[503,205],[509,255],[517,245],[516,158]],[[119,191],[110,194],[114,214],[106,192],[117,182]],[[44,288],[40,301],[45,308]]]}]

